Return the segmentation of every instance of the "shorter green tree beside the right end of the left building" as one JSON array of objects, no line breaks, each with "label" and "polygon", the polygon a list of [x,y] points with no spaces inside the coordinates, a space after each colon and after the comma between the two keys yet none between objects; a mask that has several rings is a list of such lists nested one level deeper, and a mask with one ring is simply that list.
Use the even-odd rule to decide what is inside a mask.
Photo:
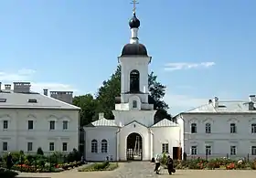
[{"label": "shorter green tree beside the right end of the left building", "polygon": [[93,99],[91,94],[76,96],[73,99],[73,104],[80,107],[80,126],[91,123],[95,117],[97,109],[97,100]]}]

